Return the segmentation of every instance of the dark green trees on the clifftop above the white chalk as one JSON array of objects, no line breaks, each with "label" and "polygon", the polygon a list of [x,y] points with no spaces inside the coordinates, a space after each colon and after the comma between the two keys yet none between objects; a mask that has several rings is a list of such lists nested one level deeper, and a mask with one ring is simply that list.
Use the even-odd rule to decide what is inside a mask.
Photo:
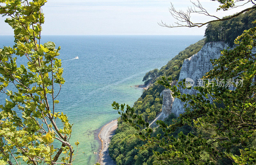
[{"label": "dark green trees on the clifftop above the white chalk", "polygon": [[224,41],[233,46],[238,35],[241,35],[244,30],[254,27],[252,21],[255,19],[256,11],[251,10],[230,20],[209,23],[205,30],[205,42]]}]

